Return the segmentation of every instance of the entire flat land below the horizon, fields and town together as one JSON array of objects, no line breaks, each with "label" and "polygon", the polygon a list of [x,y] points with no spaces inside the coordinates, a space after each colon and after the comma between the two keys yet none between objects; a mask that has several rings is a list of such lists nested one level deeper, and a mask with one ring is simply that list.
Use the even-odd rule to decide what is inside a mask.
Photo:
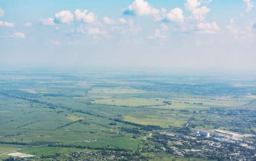
[{"label": "entire flat land below the horizon, fields and town together", "polygon": [[255,93],[253,76],[0,71],[0,160],[252,160]]}]

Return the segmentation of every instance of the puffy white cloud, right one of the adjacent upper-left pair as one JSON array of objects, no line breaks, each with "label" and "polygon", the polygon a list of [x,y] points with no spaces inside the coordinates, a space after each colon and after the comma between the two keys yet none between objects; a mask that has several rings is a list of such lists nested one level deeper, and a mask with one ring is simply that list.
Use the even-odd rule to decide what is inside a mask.
[{"label": "puffy white cloud, right one of the adjacent upper-left pair", "polygon": [[84,10],[83,12],[81,10],[75,11],[75,16],[77,21],[82,21],[86,23],[98,23],[97,17],[93,12],[88,12],[88,10]]}]

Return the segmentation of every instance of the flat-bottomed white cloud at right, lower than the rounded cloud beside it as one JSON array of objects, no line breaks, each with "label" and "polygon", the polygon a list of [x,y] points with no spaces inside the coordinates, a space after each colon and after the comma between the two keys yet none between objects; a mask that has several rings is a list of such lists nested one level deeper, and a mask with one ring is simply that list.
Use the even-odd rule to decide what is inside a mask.
[{"label": "flat-bottomed white cloud at right, lower than the rounded cloud beside it", "polygon": [[221,30],[215,21],[211,23],[200,22],[196,25],[196,28],[197,32],[203,34],[215,34]]}]

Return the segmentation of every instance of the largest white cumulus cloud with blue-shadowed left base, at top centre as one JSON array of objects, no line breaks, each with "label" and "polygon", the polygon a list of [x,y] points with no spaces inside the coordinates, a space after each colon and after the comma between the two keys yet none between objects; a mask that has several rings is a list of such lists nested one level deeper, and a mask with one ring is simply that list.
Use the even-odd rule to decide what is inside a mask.
[{"label": "largest white cumulus cloud with blue-shadowed left base, at top centre", "polygon": [[129,5],[127,9],[124,10],[124,15],[157,15],[159,10],[153,8],[148,2],[144,0],[135,0],[132,5]]}]

